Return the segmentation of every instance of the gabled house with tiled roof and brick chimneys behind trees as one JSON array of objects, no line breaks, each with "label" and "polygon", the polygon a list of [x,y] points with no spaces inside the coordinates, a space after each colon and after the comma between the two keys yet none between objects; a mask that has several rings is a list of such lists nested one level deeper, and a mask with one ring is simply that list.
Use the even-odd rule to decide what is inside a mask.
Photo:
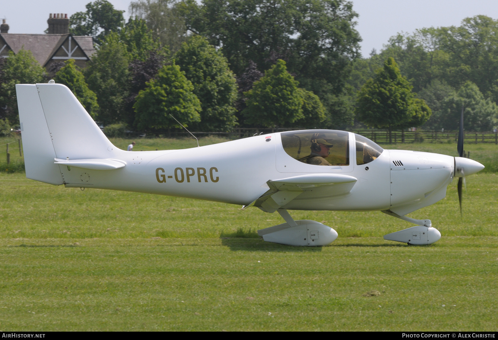
[{"label": "gabled house with tiled roof and brick chimneys behind trees", "polygon": [[92,37],[69,33],[67,14],[50,13],[47,23],[47,34],[19,34],[8,33],[9,26],[3,19],[0,25],[0,57],[8,57],[9,51],[18,53],[21,49],[29,50],[49,75],[52,64],[68,59],[74,59],[77,66],[85,68],[96,52]]}]

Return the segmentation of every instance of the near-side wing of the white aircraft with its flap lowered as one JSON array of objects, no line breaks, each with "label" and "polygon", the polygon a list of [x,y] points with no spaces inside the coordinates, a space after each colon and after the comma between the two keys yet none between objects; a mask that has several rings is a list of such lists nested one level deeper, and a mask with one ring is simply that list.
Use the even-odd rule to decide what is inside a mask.
[{"label": "near-side wing of the white aircraft with its flap lowered", "polygon": [[[327,187],[327,196],[344,195],[351,191],[357,178],[339,173],[313,173],[282,179],[268,180],[269,190],[243,209],[255,206],[266,212],[274,212],[305,191]],[[320,190],[322,191],[322,190]],[[323,192],[321,193],[323,197]]]}]

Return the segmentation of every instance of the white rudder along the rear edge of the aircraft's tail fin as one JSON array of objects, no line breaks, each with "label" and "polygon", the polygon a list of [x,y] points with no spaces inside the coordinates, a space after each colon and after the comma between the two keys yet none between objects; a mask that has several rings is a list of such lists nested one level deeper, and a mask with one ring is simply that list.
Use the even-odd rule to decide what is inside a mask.
[{"label": "white rudder along the rear edge of the aircraft's tail fin", "polygon": [[26,177],[49,184],[62,184],[59,167],[54,164],[55,152],[36,85],[15,85],[15,90]]}]

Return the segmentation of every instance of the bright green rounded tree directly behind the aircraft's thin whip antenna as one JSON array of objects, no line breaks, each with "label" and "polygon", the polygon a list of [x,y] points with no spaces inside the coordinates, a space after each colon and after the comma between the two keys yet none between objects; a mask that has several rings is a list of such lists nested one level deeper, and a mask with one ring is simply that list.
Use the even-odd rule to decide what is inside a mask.
[{"label": "bright green rounded tree directly behind the aircraft's thin whip antenna", "polygon": [[185,78],[179,66],[164,66],[156,78],[138,92],[133,106],[136,126],[146,131],[181,128],[170,114],[184,126],[199,122],[201,103],[193,90],[194,85]]}]

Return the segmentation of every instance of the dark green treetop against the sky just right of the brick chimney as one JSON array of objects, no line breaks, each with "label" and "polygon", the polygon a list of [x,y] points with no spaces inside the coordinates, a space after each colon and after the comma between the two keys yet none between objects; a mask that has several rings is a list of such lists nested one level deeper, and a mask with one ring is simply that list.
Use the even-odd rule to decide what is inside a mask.
[{"label": "dark green treetop against the sky just right of the brick chimney", "polygon": [[87,3],[85,12],[76,12],[69,18],[69,31],[74,35],[91,35],[102,44],[110,32],[118,32],[124,24],[124,10],[117,10],[106,0]]}]

